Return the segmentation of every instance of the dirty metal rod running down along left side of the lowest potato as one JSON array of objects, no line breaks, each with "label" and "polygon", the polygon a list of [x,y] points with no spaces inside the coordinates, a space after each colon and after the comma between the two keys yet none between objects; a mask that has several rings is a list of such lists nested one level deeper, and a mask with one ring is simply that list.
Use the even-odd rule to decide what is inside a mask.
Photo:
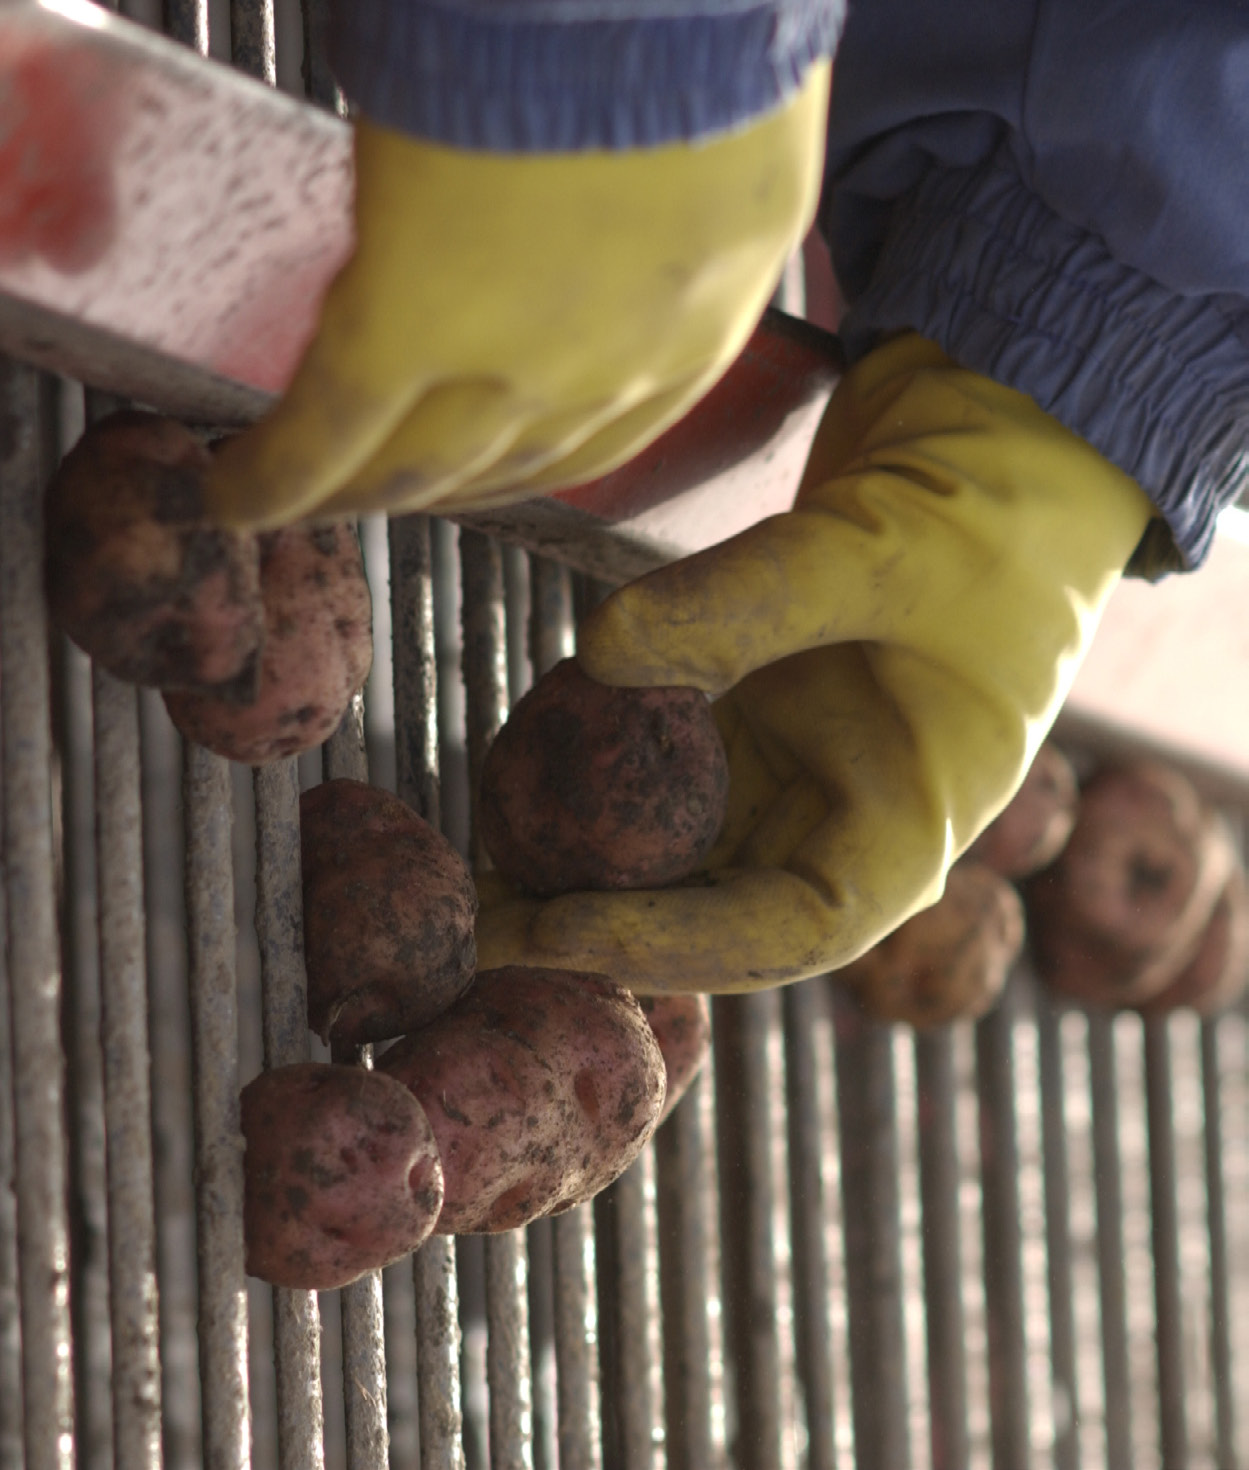
[{"label": "dirty metal rod running down along left side of the lowest potato", "polygon": [[204,1461],[250,1464],[229,766],[184,750]]}]

